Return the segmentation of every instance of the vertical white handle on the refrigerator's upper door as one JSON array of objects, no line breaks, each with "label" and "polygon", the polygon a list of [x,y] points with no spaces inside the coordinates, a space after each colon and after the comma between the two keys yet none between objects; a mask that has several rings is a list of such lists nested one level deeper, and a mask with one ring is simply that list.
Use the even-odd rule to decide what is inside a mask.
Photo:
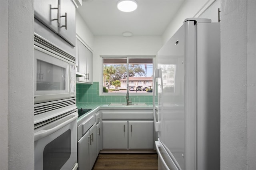
[{"label": "vertical white handle on the refrigerator's upper door", "polygon": [[156,104],[155,104],[156,78],[161,79],[161,92],[163,93],[163,79],[162,79],[162,70],[161,69],[155,69],[154,79],[153,79],[153,119],[154,119],[155,131],[158,132],[160,121],[156,121],[156,109],[155,109],[155,107],[156,107]]}]

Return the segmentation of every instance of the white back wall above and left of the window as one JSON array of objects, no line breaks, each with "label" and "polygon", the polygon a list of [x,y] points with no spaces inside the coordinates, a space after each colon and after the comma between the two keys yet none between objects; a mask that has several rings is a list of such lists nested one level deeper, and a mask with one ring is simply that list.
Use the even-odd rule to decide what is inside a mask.
[{"label": "white back wall above and left of the window", "polygon": [[160,36],[95,36],[93,81],[101,81],[100,55],[156,55],[161,47]]}]

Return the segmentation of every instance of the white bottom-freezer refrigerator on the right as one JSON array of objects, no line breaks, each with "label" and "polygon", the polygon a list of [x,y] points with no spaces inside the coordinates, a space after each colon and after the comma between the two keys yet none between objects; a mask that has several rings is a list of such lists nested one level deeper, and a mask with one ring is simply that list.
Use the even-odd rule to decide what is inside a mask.
[{"label": "white bottom-freezer refrigerator on the right", "polygon": [[220,23],[187,18],[157,60],[158,169],[220,169]]}]

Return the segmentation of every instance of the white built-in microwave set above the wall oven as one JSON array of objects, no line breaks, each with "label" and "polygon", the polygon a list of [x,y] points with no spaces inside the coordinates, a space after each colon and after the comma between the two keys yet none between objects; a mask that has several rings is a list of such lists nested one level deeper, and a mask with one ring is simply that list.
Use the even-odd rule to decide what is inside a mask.
[{"label": "white built-in microwave set above the wall oven", "polygon": [[34,45],[34,103],[76,97],[76,64],[54,50]]}]

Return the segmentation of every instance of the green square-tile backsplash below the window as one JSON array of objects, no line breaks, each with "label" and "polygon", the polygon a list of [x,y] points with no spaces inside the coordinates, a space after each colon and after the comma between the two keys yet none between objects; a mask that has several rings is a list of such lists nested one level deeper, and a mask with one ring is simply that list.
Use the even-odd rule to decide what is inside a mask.
[{"label": "green square-tile backsplash below the window", "polygon": [[[99,82],[89,84],[76,84],[76,102],[77,103],[125,103],[126,94],[122,96],[99,95]],[[148,95],[130,95],[132,102],[152,103],[152,96]]]}]

